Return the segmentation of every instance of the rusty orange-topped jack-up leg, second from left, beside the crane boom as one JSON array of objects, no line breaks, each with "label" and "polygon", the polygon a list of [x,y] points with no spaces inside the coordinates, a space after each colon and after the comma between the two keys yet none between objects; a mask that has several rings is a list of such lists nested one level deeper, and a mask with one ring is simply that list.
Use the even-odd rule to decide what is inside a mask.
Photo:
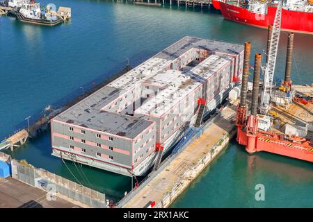
[{"label": "rusty orange-topped jack-up leg, second from left, beside the crane boom", "polygon": [[252,103],[251,115],[257,115],[257,105],[259,102],[259,75],[261,71],[262,54],[255,54],[255,71],[253,74],[253,90],[252,90]]}]

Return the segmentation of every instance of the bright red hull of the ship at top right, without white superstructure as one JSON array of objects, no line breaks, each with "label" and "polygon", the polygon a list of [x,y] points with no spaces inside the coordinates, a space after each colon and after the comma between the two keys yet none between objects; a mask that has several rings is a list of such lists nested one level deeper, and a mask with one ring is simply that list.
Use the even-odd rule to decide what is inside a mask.
[{"label": "bright red hull of the ship at top right, without white superstructure", "polygon": [[[276,7],[268,6],[266,15],[250,12],[242,6],[212,0],[214,8],[220,10],[225,19],[241,24],[268,28],[273,24]],[[300,12],[282,9],[282,31],[313,34],[313,12]]]}]

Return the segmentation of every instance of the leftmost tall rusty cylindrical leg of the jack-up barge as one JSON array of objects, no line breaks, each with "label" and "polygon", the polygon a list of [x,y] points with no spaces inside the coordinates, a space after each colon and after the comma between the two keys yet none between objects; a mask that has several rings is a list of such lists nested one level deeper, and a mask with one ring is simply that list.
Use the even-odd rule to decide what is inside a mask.
[{"label": "leftmost tall rusty cylindrical leg of the jack-up barge", "polygon": [[241,108],[246,107],[246,101],[247,101],[250,51],[251,51],[251,43],[245,42],[245,54],[243,58],[243,75],[242,75],[241,96],[240,96]]}]

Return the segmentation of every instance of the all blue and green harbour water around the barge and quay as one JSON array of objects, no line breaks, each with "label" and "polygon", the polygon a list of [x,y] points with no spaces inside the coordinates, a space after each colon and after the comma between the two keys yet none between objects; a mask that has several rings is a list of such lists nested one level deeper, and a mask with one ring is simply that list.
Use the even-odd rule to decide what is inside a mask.
[{"label": "all blue and green harbour water around the barge and quay", "polygon": [[[42,0],[42,5],[51,1]],[[185,35],[252,42],[266,49],[266,30],[223,20],[214,10],[184,6],[147,7],[131,2],[54,0],[72,8],[72,19],[55,27],[0,17],[0,137],[35,120],[46,105],[61,105],[125,67],[153,56]],[[282,33],[276,73],[282,78],[287,34]],[[295,35],[294,83],[313,83],[313,36]],[[29,140],[12,153],[113,200],[131,189],[131,178],[51,156],[50,135]],[[88,181],[83,180],[83,174]],[[255,185],[265,200],[255,200]],[[177,199],[172,207],[312,207],[313,165],[268,153],[248,155],[234,142]]]}]

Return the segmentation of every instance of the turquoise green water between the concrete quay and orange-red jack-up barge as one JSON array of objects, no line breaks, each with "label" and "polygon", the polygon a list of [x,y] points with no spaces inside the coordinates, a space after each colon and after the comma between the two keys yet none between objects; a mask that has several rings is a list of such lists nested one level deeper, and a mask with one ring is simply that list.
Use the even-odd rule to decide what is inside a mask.
[{"label": "turquoise green water between the concrete quay and orange-red jack-up barge", "polygon": [[[313,166],[232,142],[171,207],[313,207]],[[264,200],[255,200],[264,185]]]}]

